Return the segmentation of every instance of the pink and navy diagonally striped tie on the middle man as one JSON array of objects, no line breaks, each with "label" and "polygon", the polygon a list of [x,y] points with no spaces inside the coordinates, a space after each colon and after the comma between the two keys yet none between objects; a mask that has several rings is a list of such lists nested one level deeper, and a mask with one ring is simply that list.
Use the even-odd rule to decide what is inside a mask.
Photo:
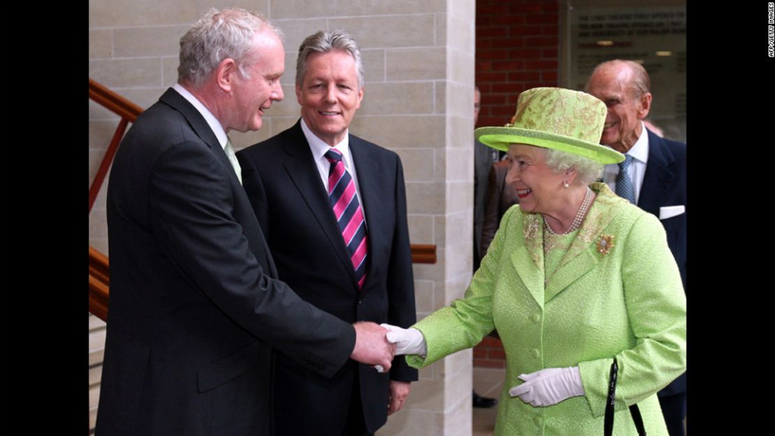
[{"label": "pink and navy diagonally striped tie on the middle man", "polygon": [[358,289],[363,289],[366,280],[366,255],[368,252],[366,238],[366,221],[363,219],[363,208],[358,201],[355,182],[347,172],[342,162],[342,153],[337,149],[325,152],[329,160],[329,201],[334,210],[334,217],[339,224],[344,243],[350,252],[350,261],[355,269]]}]

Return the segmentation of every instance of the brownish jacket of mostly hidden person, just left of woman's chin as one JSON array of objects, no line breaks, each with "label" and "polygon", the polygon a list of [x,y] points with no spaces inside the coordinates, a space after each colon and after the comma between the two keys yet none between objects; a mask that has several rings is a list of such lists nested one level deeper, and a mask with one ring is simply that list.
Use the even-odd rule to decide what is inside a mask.
[{"label": "brownish jacket of mostly hidden person, just left of woman's chin", "polygon": [[500,160],[492,164],[487,176],[487,195],[484,197],[484,222],[482,223],[481,255],[487,254],[490,243],[501,225],[501,217],[508,208],[519,203],[517,190],[506,183],[509,160]]}]

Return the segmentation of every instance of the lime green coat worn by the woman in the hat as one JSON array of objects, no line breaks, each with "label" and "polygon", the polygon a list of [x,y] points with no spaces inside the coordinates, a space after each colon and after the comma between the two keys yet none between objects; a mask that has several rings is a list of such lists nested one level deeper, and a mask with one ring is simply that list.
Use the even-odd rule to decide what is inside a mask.
[{"label": "lime green coat worn by the woman in the hat", "polygon": [[[550,277],[540,215],[509,209],[463,300],[415,325],[427,366],[498,329],[506,376],[496,435],[603,433],[608,372],[619,376],[614,434],[636,434],[626,406],[638,403],[649,436],[667,436],[656,392],[686,367],[686,298],[660,221],[598,192],[577,238]],[[584,397],[532,407],[508,389],[539,369],[579,366]]]}]

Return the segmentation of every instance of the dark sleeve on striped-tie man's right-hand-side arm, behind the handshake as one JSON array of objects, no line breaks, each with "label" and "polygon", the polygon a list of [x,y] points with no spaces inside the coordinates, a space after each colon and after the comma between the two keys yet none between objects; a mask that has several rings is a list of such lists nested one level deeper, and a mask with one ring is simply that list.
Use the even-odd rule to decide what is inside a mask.
[{"label": "dark sleeve on striped-tie man's right-hand-side arm, behind the handshake", "polygon": [[[387,271],[389,324],[408,328],[417,321],[415,309],[415,279],[412,274],[412,249],[409,245],[409,227],[406,218],[406,187],[401,158],[396,156],[395,173],[395,232]],[[392,380],[413,382],[418,379],[417,369],[410,368],[405,359],[394,359]]]}]

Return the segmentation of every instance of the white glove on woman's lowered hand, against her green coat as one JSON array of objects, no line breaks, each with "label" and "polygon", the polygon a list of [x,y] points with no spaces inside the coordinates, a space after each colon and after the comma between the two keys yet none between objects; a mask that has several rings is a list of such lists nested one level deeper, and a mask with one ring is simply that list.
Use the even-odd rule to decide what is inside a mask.
[{"label": "white glove on woman's lowered hand, against her green coat", "polygon": [[584,395],[578,366],[542,369],[521,374],[519,378],[525,383],[512,387],[508,394],[532,406],[552,406],[567,398]]}]

